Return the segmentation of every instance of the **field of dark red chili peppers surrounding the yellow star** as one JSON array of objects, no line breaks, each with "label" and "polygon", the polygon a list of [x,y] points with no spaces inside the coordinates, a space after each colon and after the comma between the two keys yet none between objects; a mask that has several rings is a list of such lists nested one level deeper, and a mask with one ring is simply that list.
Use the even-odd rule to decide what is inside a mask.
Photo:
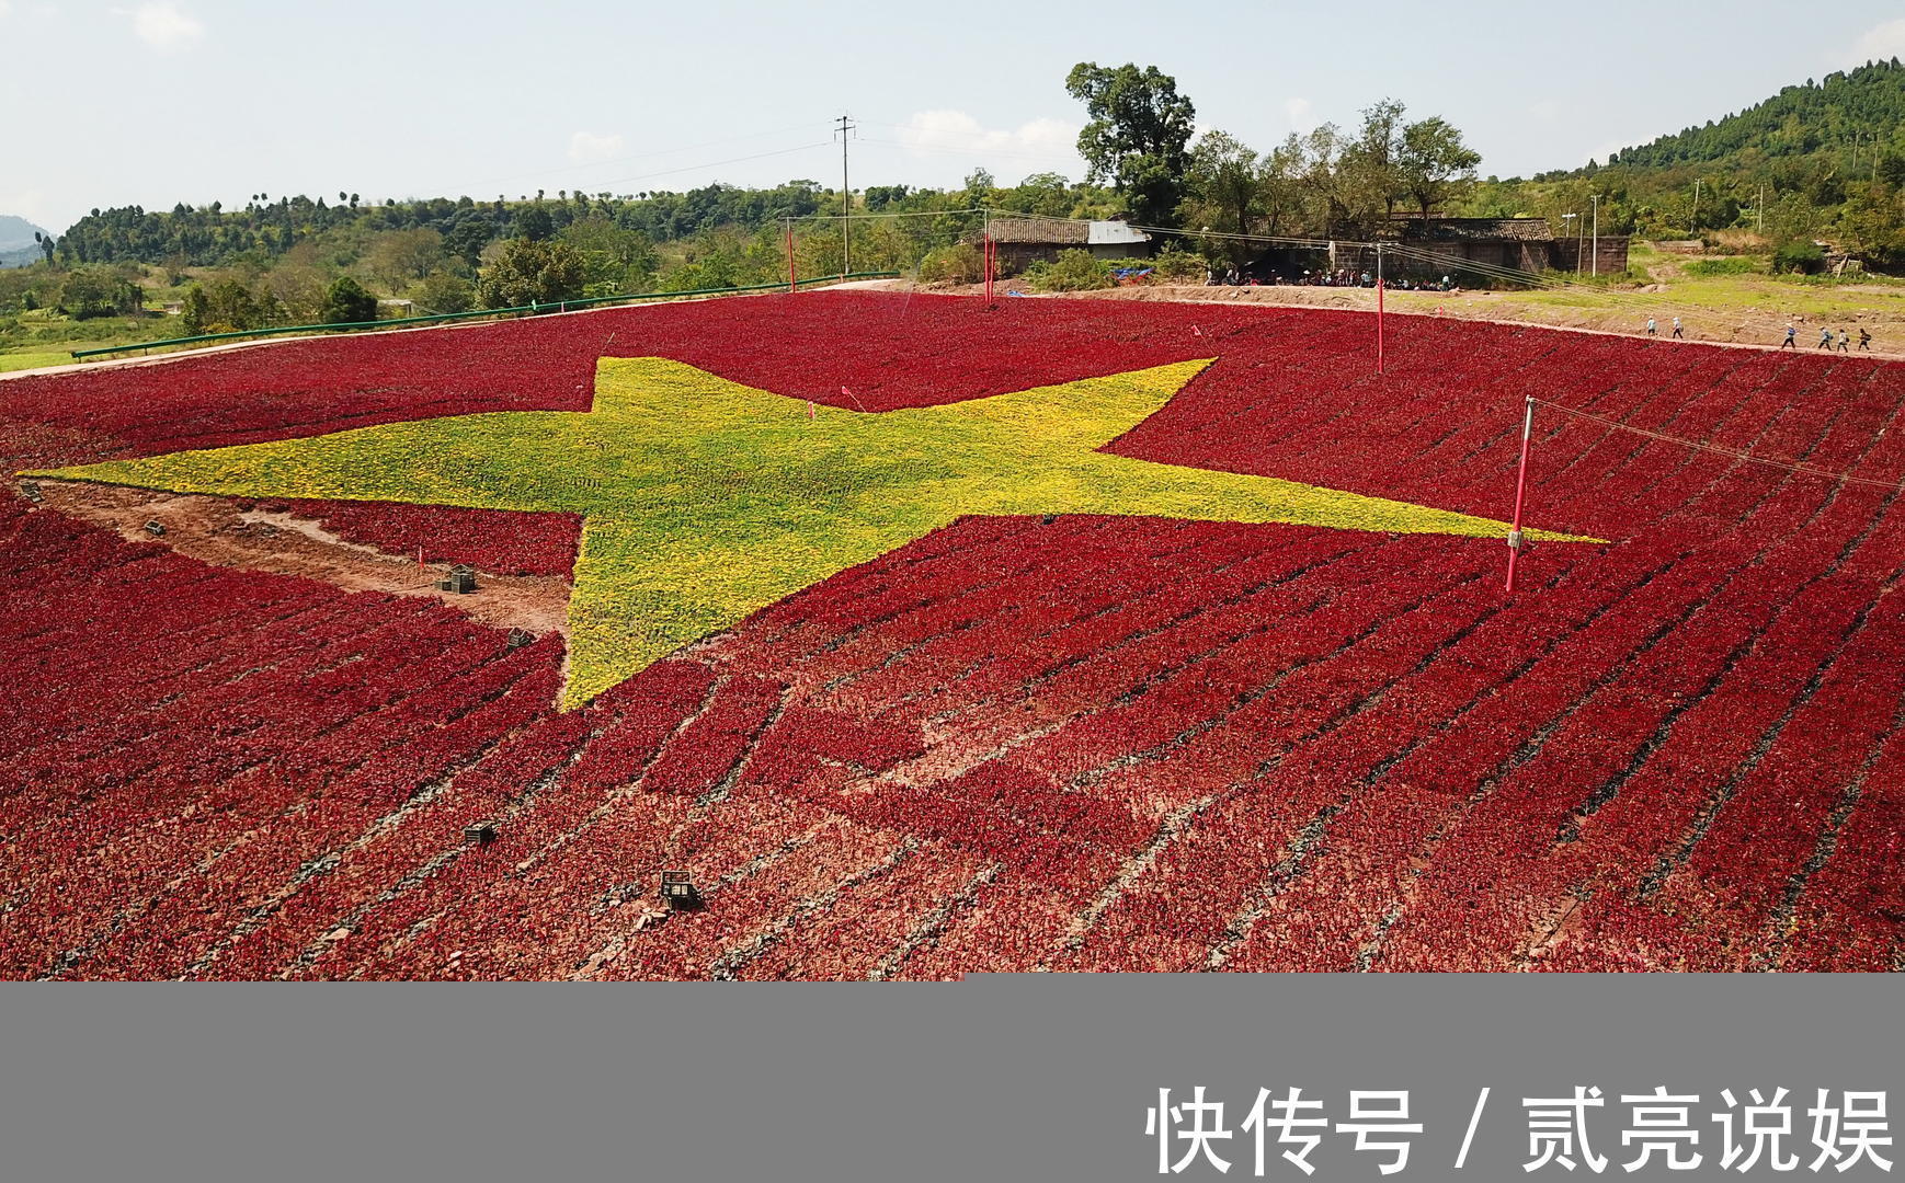
[{"label": "field of dark red chili peppers surrounding the yellow star", "polygon": [[[11,478],[0,975],[1901,968],[1905,368],[1372,349],[1366,314],[838,291],[0,381],[8,474],[589,411],[598,358],[813,431],[1210,360],[1103,451],[1494,520],[1526,394],[1673,436],[1537,410],[1528,526],[1602,541],[1535,543],[1513,598],[1501,535],[968,514],[573,709],[564,631],[512,644],[484,587],[206,558]],[[351,562],[581,570],[566,512],[227,501]]]}]

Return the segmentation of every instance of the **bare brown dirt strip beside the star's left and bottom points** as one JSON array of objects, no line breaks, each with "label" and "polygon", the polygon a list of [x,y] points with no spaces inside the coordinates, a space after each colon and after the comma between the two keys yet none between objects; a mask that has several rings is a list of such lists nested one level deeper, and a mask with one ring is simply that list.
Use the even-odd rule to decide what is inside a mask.
[{"label": "bare brown dirt strip beside the star's left and bottom points", "polygon": [[[322,579],[345,591],[392,596],[431,596],[497,629],[524,629],[541,636],[562,632],[568,621],[570,583],[558,575],[490,575],[478,571],[469,594],[438,591],[448,573],[442,564],[417,566],[351,543],[316,522],[286,512],[240,511],[225,497],[194,497],[78,480],[38,480],[48,509],[116,531],[120,537],[160,541],[192,558],[223,568],[274,571]],[[162,535],[147,522],[164,528]]]}]

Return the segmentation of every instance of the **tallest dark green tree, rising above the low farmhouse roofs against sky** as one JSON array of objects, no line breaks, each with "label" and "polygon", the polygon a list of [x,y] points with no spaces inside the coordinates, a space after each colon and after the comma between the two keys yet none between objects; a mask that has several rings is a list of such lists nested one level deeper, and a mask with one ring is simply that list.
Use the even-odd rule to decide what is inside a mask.
[{"label": "tallest dark green tree, rising above the low farmhouse roofs against sky", "polygon": [[1086,107],[1078,154],[1093,183],[1111,181],[1141,225],[1175,227],[1196,109],[1156,67],[1080,61],[1065,91]]}]

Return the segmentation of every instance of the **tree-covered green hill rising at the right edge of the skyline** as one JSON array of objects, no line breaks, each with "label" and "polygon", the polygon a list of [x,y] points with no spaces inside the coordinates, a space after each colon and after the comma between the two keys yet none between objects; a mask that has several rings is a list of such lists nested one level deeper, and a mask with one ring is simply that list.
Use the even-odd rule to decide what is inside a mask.
[{"label": "tree-covered green hill rising at the right edge of the skyline", "polygon": [[[1871,154],[1875,147],[1876,156]],[[1886,156],[1905,158],[1905,65],[1894,57],[1827,74],[1825,82],[1808,78],[1737,114],[1617,152],[1608,164],[1749,164],[1749,152],[1764,158],[1844,154],[1848,164],[1857,154],[1880,168]]]}]

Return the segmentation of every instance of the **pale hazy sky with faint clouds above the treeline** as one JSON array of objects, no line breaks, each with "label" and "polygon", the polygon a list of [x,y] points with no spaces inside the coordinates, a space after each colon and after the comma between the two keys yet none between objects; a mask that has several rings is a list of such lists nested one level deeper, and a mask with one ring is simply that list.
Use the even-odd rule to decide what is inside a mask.
[{"label": "pale hazy sky with faint clouds above the treeline", "polygon": [[[1459,15],[1457,15],[1459,13]],[[1076,61],[1156,65],[1259,149],[1379,97],[1482,171],[1583,164],[1865,57],[1905,4],[490,4],[0,0],[0,213],[339,190],[1073,179]]]}]

